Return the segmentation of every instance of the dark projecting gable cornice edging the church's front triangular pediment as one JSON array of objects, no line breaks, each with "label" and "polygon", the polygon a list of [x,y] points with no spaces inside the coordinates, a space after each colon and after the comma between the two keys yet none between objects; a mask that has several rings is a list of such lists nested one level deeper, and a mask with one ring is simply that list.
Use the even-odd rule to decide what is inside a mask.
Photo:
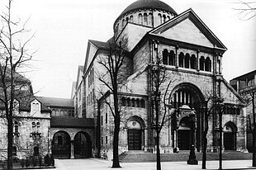
[{"label": "dark projecting gable cornice edging the church's front triangular pediment", "polygon": [[192,10],[192,8],[187,11],[179,14],[177,17],[173,17],[171,20],[165,22],[164,24],[154,28],[152,31],[149,31],[150,35],[156,35],[168,30],[170,27],[178,25],[186,19],[190,19],[195,26],[201,31],[203,35],[211,41],[213,45],[216,45],[215,48],[220,48],[221,50],[227,50],[225,45],[216,37],[216,35],[206,26],[206,24],[201,21],[197,14]]}]

